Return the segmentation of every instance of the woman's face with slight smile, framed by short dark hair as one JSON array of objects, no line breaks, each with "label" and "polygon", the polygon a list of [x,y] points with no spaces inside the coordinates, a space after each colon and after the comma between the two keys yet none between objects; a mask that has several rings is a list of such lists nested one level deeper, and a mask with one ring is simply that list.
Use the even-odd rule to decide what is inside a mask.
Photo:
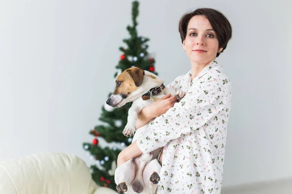
[{"label": "woman's face with slight smile, framed by short dark hair", "polygon": [[217,35],[205,16],[193,16],[186,31],[183,49],[192,63],[207,64],[216,58],[219,49]]}]

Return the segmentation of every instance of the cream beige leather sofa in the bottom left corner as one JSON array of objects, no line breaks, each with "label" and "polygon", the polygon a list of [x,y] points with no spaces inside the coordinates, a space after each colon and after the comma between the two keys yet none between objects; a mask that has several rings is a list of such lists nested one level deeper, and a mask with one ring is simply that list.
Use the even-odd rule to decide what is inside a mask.
[{"label": "cream beige leather sofa in the bottom left corner", "polygon": [[44,153],[0,161],[0,194],[117,194],[97,186],[74,155]]}]

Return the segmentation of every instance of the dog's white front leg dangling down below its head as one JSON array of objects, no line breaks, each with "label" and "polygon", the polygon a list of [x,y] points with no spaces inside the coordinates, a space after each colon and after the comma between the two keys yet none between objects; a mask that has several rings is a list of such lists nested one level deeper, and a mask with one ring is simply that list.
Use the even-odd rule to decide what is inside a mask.
[{"label": "dog's white front leg dangling down below its head", "polygon": [[137,118],[138,118],[138,114],[140,113],[142,109],[138,106],[131,106],[131,108],[128,111],[128,122],[127,125],[125,127],[125,129],[123,130],[123,134],[126,137],[131,137],[134,135],[135,133],[135,129],[136,129],[136,122],[137,122]]}]

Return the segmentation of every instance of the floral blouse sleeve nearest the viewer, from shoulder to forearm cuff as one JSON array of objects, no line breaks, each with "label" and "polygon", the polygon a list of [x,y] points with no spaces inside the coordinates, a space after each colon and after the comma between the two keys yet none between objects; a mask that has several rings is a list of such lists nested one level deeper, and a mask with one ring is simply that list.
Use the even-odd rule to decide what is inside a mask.
[{"label": "floral blouse sleeve nearest the viewer, from shoulder to forearm cuff", "polygon": [[212,70],[193,82],[183,99],[156,117],[137,138],[143,153],[165,146],[170,140],[200,129],[229,103],[231,85],[227,76]]}]

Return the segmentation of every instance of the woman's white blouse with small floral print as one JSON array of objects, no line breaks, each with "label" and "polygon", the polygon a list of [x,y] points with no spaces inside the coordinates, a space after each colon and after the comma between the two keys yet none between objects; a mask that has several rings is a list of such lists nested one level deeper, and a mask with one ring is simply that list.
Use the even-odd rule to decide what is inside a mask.
[{"label": "woman's white blouse with small floral print", "polygon": [[157,194],[220,194],[231,83],[213,61],[193,81],[190,70],[167,87],[186,95],[137,139],[143,153],[164,147]]}]

